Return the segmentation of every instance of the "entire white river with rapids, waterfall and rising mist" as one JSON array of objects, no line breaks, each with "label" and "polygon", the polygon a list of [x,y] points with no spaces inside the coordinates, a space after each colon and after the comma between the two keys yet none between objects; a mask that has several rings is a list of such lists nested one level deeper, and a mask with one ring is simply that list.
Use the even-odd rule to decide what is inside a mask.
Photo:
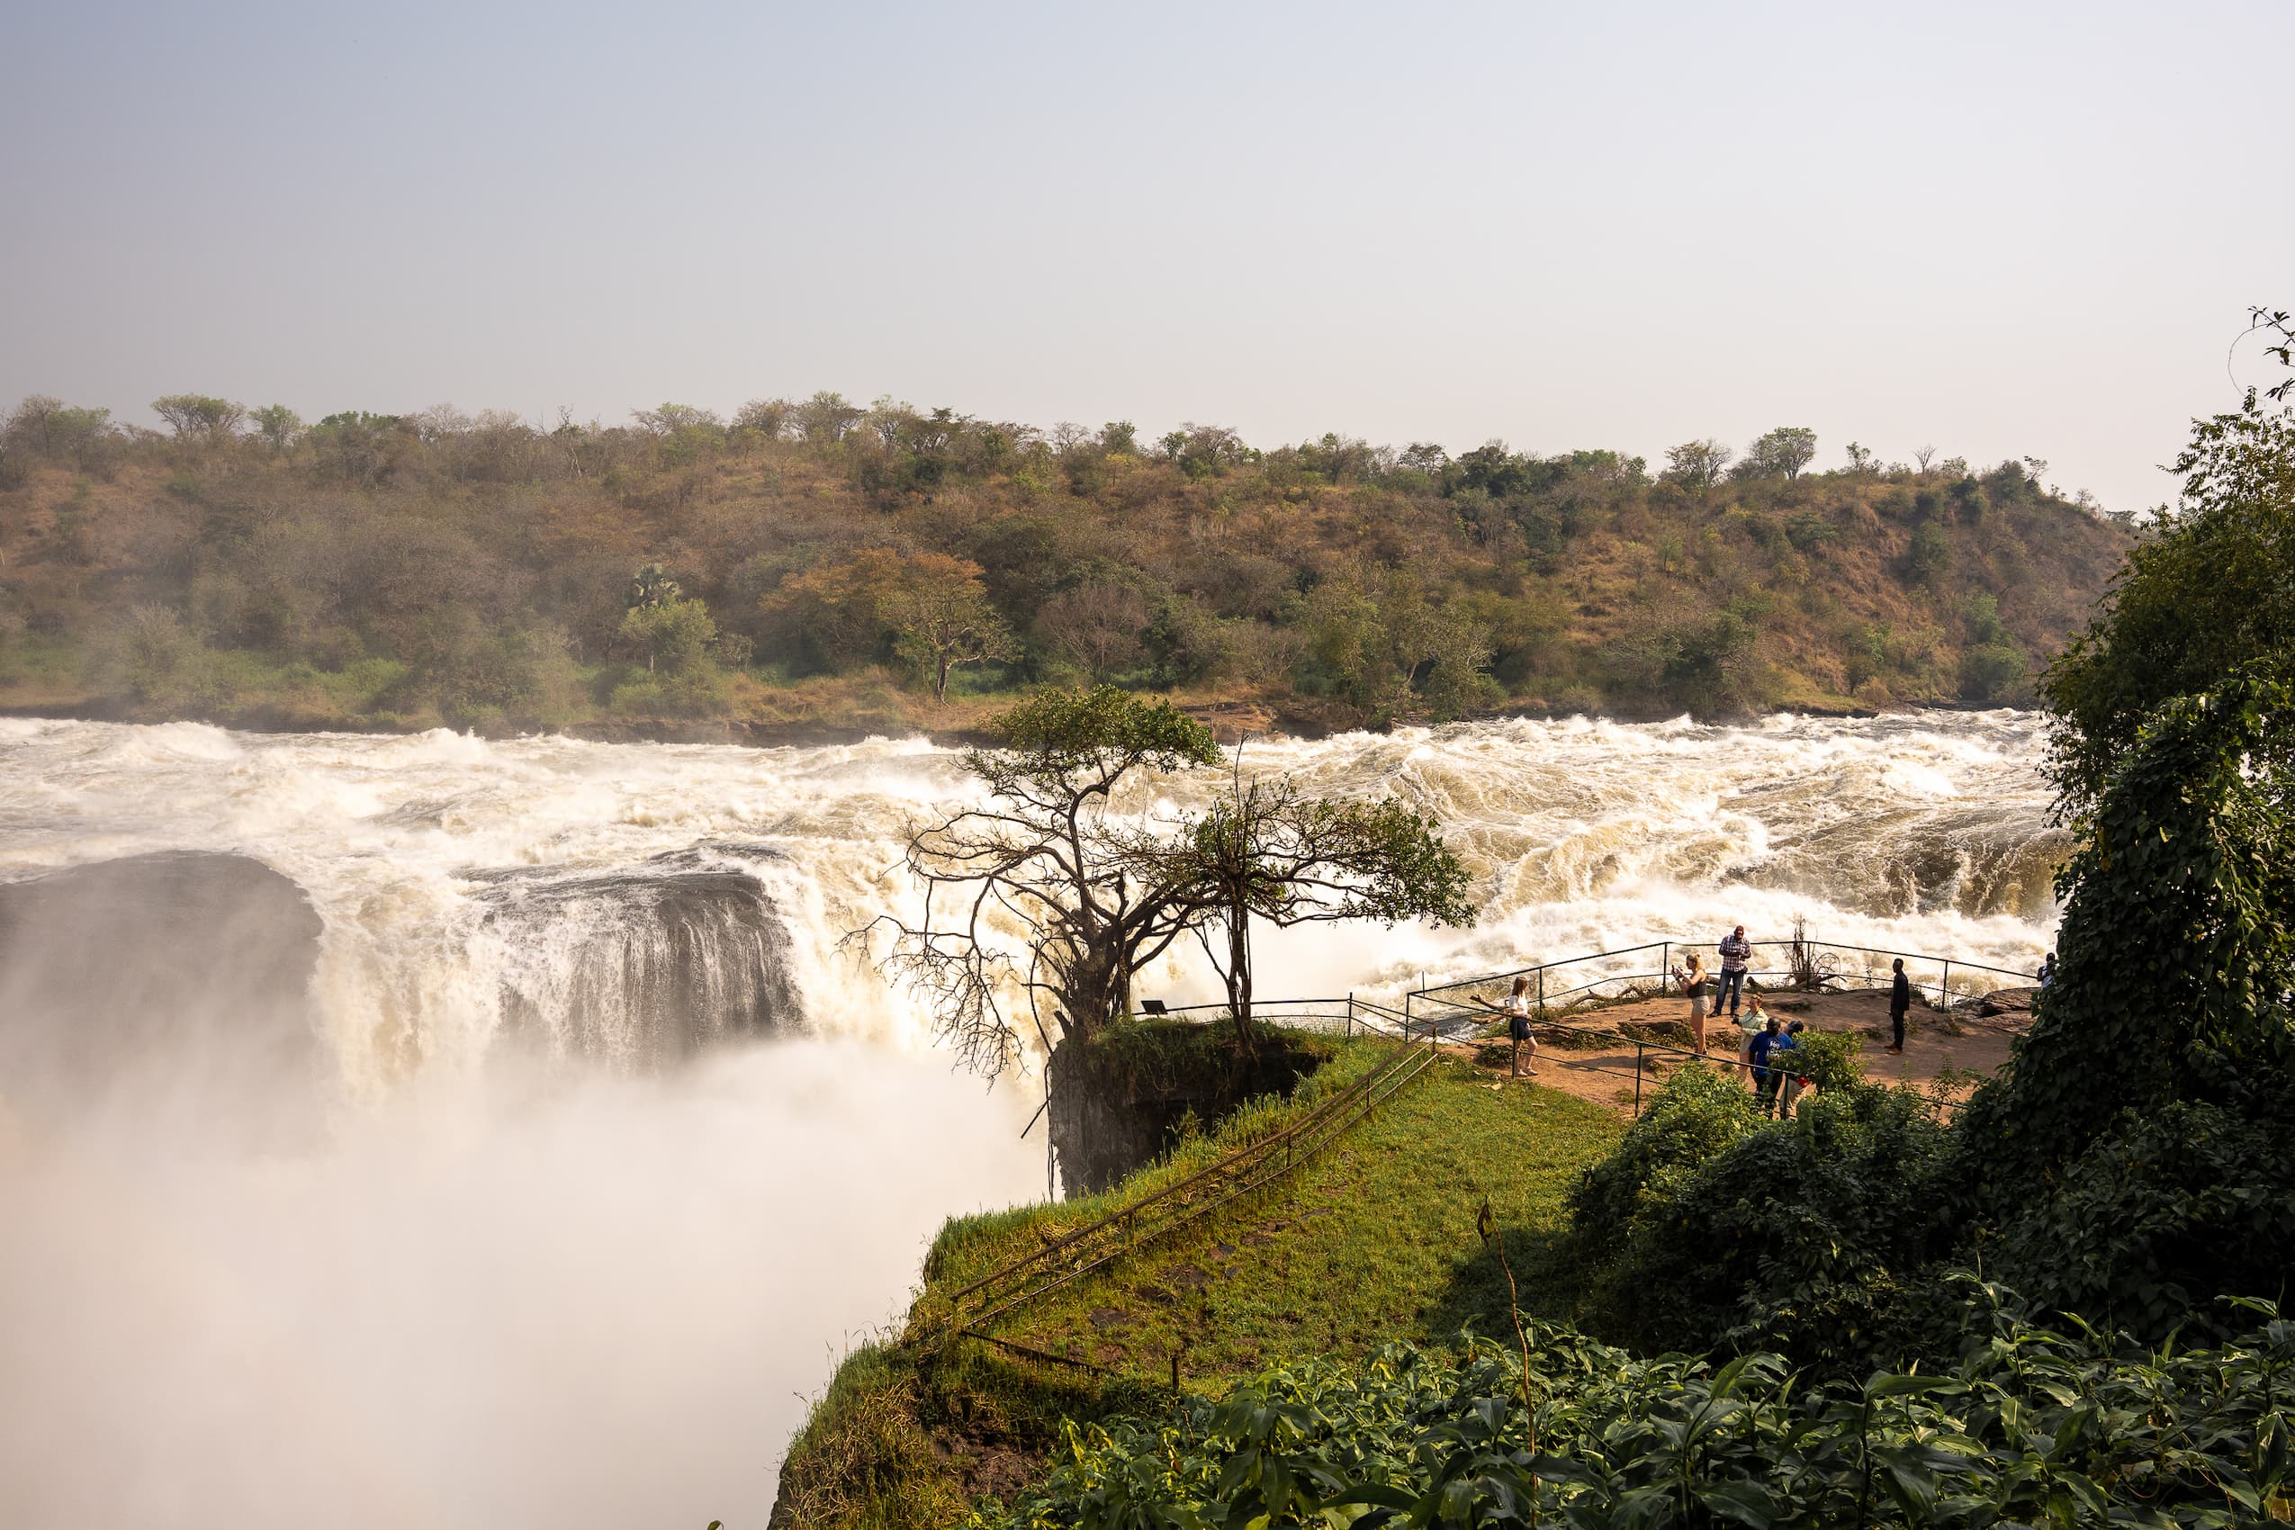
[{"label": "entire white river with rapids, waterfall and rising mist", "polygon": [[[1485,899],[1471,931],[1271,938],[1260,989],[1795,913],[2029,968],[2061,853],[2038,748],[2024,713],[1251,743],[1246,768],[1437,812]],[[161,895],[190,908],[48,899],[73,940],[0,943],[0,1521],[762,1523],[799,1395],[895,1314],[941,1216],[1042,1193],[1042,1140],[1017,1138],[1040,1083],[952,1076],[835,950],[913,906],[904,828],[968,791],[923,741],[0,720],[0,904],[131,856],[259,862]],[[218,998],[248,963],[202,920],[291,924],[211,908],[273,897],[264,867],[314,934],[282,936],[294,991],[255,1007],[314,1044],[248,1092],[211,1067],[252,1023]],[[117,973],[90,986],[67,947]],[[1145,991],[1212,982],[1182,957]],[[90,1083],[129,1051],[140,1094]],[[273,1115],[291,1129],[250,1131]]]}]

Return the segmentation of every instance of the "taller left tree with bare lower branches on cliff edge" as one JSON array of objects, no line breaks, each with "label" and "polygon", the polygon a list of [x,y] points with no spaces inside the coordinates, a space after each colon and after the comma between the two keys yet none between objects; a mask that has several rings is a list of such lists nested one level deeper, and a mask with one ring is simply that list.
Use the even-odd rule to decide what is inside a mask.
[{"label": "taller left tree with bare lower branches on cliff edge", "polygon": [[888,934],[886,973],[913,984],[941,1037],[989,1076],[1019,1044],[1014,993],[1047,1041],[1047,1012],[1060,1037],[1088,1041],[1127,1009],[1131,975],[1187,934],[1198,899],[1175,874],[1143,874],[1136,830],[1108,805],[1136,775],[1219,759],[1207,727],[1115,686],[1037,693],[991,732],[991,748],[964,755],[989,798],[909,837],[923,913],[851,936],[868,947]]}]

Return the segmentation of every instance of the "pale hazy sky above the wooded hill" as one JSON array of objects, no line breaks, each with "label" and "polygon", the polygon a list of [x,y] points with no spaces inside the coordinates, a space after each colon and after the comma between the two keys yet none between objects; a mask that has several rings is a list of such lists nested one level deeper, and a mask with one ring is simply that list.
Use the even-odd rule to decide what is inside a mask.
[{"label": "pale hazy sky above the wooded hill", "polygon": [[835,388],[2166,495],[2295,5],[11,5],[0,408]]}]

